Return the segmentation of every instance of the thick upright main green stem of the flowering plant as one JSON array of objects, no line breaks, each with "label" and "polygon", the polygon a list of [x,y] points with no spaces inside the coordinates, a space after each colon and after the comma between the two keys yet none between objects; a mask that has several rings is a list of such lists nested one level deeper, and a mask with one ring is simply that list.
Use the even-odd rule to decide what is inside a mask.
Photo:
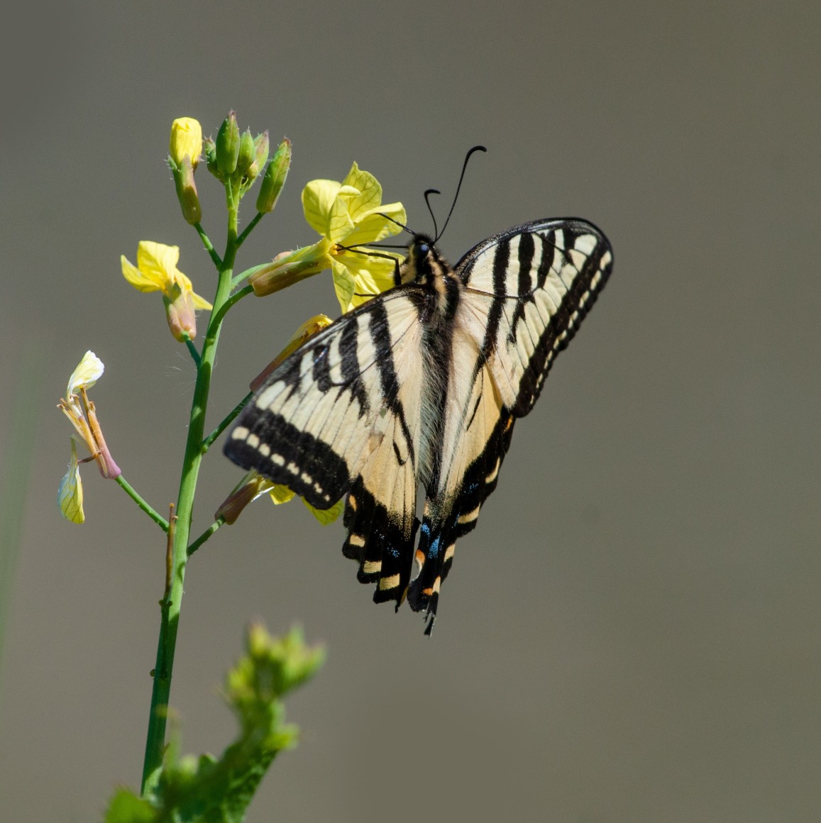
[{"label": "thick upright main green stem of the flowering plant", "polygon": [[203,459],[203,430],[205,428],[205,412],[208,407],[208,392],[211,388],[211,375],[217,356],[220,326],[222,317],[225,314],[220,309],[229,300],[231,294],[231,274],[237,248],[236,219],[236,206],[233,198],[229,198],[226,251],[219,267],[219,281],[217,282],[217,295],[214,297],[214,309],[211,319],[208,321],[208,329],[203,341],[203,351],[197,367],[197,382],[194,385],[194,400],[191,404],[188,439],[185,442],[183,470],[180,476],[180,495],[177,498],[177,521],[171,560],[170,591],[162,598],[160,604],[160,636],[157,641],[151,714],[148,718],[146,752],[142,766],[143,793],[146,791],[148,779],[162,765],[162,758],[166,749],[166,714],[171,690],[171,675],[174,669],[177,631],[180,627],[180,602],[183,596],[185,563],[188,560],[194,493],[197,489],[197,477]]}]

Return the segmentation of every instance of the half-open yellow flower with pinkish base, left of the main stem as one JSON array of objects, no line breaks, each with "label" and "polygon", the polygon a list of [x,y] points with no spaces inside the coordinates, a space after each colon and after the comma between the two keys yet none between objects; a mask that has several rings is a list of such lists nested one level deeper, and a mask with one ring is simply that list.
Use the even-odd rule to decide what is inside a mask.
[{"label": "half-open yellow flower with pinkish base, left of the main stem", "polygon": [[211,309],[205,298],[194,294],[188,277],[177,268],[180,259],[179,246],[166,246],[152,240],[140,240],[137,248],[137,265],[129,263],[121,255],[123,277],[138,291],[161,291],[166,306],[166,319],[176,340],[194,339],[197,322],[194,309]]}]

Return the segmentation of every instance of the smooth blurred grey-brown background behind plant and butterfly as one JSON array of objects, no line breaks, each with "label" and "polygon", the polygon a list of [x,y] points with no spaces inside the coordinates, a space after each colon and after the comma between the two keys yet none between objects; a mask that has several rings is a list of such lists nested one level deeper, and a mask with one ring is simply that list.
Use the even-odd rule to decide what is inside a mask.
[{"label": "smooth blurred grey-brown background behind plant and butterfly", "polygon": [[[329,659],[288,705],[301,746],[251,821],[818,819],[817,3],[28,2],[4,17],[0,448],[25,351],[40,411],[2,662],[3,820],[94,821],[139,781],[163,541],[94,467],[85,525],[60,518],[54,404],[96,351],[114,457],[166,510],[194,371],[119,255],[179,244],[212,295],[164,159],[172,119],[216,134],[231,108],[294,144],[243,267],[312,242],[301,188],[352,160],[427,230],[422,191],[441,188],[443,212],[482,142],[451,260],[573,215],[609,235],[615,268],[516,426],[431,640],[407,607],[370,602],[342,526],[299,503],[260,500],[194,557],[171,695],[184,750],[231,740],[217,688],[246,621],[301,621]],[[222,244],[221,190],[198,181]],[[338,312],[328,275],[240,303],[213,424],[319,311]],[[239,476],[215,449],[194,533]]]}]

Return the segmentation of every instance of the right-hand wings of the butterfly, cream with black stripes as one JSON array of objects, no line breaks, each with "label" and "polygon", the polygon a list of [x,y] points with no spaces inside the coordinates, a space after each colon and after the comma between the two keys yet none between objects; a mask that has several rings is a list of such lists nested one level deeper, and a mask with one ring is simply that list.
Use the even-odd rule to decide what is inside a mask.
[{"label": "right-hand wings of the butterfly, cream with black stripes", "polygon": [[458,537],[476,526],[496,488],[516,417],[544,379],[612,269],[604,235],[573,218],[534,221],[471,249],[455,267],[464,286],[453,325],[453,364],[441,461],[427,486],[408,600],[431,630]]}]

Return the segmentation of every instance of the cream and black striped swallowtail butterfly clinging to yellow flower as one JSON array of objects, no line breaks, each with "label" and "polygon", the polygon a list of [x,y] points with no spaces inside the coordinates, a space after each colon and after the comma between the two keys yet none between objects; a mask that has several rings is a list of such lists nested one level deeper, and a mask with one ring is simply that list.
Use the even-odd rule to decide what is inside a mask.
[{"label": "cream and black striped swallowtail butterfly clinging to yellow flower", "polygon": [[577,218],[514,226],[455,267],[413,235],[397,285],[288,356],[225,453],[318,509],[348,495],[343,553],[359,581],[376,584],[376,602],[424,610],[430,634],[455,544],[496,488],[513,425],[612,267],[608,240]]}]

